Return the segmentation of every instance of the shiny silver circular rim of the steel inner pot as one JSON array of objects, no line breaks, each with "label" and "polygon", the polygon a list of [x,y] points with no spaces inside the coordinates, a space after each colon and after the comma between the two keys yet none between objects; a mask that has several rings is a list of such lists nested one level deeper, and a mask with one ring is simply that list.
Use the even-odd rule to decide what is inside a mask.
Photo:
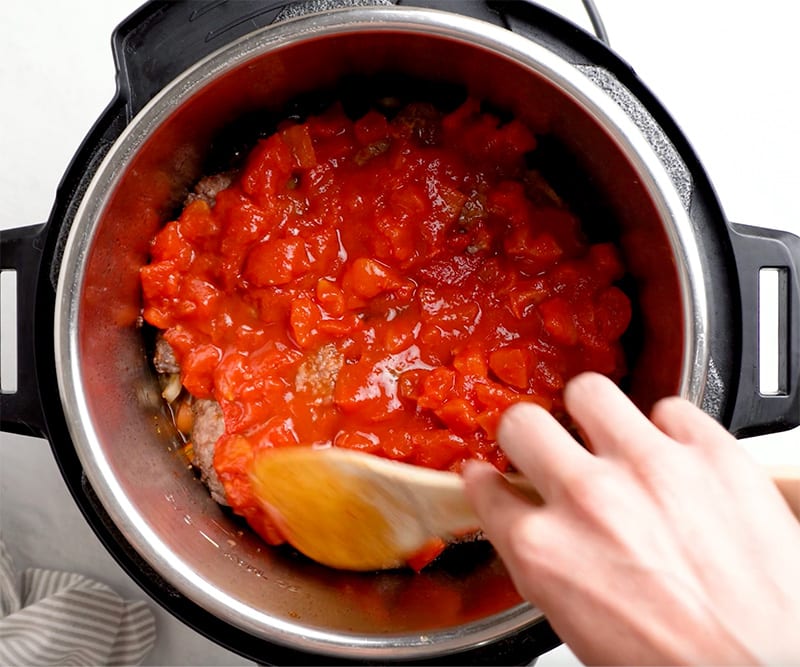
[{"label": "shiny silver circular rim of the steel inner pot", "polygon": [[[686,210],[675,186],[641,131],[606,93],[578,69],[543,46],[503,28],[456,14],[418,8],[349,8],[292,19],[253,32],[223,47],[186,70],[166,86],[128,124],[110,149],[84,194],[65,246],[59,273],[54,317],[54,345],[60,396],[70,436],[100,502],[123,536],[169,583],[216,616],[276,643],[330,655],[392,658],[440,655],[477,646],[523,630],[542,619],[539,610],[523,604],[453,630],[428,635],[364,637],[330,633],[271,616],[243,604],[192,571],[151,528],[115,478],[93,429],[82,377],[79,330],[86,259],[103,212],[137,151],[173,111],[202,87],[249,60],[306,40],[361,32],[400,32],[468,44],[488,50],[557,82],[613,136],[620,151],[636,167],[656,205],[676,260],[681,286],[684,350],[679,393],[699,403],[708,365],[707,304],[702,261]],[[700,369],[700,372],[698,372]],[[167,577],[165,577],[167,578]]]}]

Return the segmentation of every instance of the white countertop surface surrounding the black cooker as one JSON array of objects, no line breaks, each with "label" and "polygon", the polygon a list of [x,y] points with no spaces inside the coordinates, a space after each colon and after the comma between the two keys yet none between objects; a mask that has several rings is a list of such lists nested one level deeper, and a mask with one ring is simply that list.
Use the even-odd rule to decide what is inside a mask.
[{"label": "white countertop surface surrounding the black cooker", "polygon": [[[578,0],[543,4],[589,27]],[[800,233],[800,5],[793,0],[597,4],[612,47],[683,128],[728,218]],[[138,5],[139,0],[2,3],[2,228],[47,219],[70,158],[114,93],[111,31]],[[797,431],[743,446],[765,462],[800,464]],[[144,596],[83,521],[43,440],[0,434],[0,535],[19,568],[82,572],[129,597]],[[148,664],[248,664],[153,607],[159,639]],[[538,664],[575,663],[561,647]]]}]

